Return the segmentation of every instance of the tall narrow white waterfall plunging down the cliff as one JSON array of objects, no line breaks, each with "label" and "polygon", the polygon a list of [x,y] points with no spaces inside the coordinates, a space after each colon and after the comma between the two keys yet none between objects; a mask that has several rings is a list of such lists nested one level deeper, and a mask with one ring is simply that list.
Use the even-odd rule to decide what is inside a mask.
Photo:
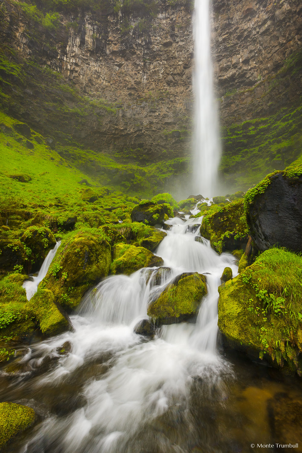
[{"label": "tall narrow white waterfall plunging down the cliff", "polygon": [[193,191],[217,194],[220,159],[218,115],[213,92],[210,0],[195,0],[193,18],[195,69],[195,124],[193,138]]}]

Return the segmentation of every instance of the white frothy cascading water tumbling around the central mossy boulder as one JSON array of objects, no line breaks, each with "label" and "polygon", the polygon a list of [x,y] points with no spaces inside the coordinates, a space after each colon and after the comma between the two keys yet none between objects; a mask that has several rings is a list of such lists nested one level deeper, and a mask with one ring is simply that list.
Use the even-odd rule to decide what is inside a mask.
[{"label": "white frothy cascading water tumbling around the central mossy boulder", "polygon": [[[36,343],[21,359],[27,364],[18,381],[20,395],[27,398],[21,401],[42,413],[44,420],[19,452],[188,451],[179,434],[186,437],[192,431],[189,401],[196,383],[202,400],[216,395],[223,401],[222,376],[230,369],[217,352],[217,288],[225,266],[237,274],[232,255],[218,255],[209,241],[195,240],[199,232],[193,225],[200,224],[201,217],[188,217],[168,221],[172,227],[157,254],[172,270],[161,286],[185,271],[206,275],[208,294],[196,323],[162,326],[147,341],[133,328],[147,318],[149,296],[159,289],[152,287],[151,279],[146,284],[148,269],[98,284],[84,299],[80,313],[71,317],[74,332]],[[60,356],[57,348],[65,342],[70,342],[71,351]],[[35,376],[48,361],[53,361],[51,369]],[[71,393],[76,403],[68,408],[63,403],[61,415],[49,413],[42,402],[46,395],[57,395],[60,404],[64,392]],[[182,428],[178,433],[170,426],[169,434],[164,434],[167,423],[168,427],[180,423]]]}]

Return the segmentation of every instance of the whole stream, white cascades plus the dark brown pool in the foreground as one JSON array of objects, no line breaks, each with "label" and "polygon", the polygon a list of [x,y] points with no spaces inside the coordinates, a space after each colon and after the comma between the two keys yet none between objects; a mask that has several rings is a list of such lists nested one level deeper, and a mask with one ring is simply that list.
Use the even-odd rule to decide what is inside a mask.
[{"label": "whole stream, white cascades plus the dark brown pool in the foreground", "polygon": [[[14,374],[1,371],[1,400],[29,405],[39,417],[5,451],[228,453],[272,442],[268,408],[280,394],[301,402],[301,385],[221,349],[218,286],[226,266],[233,276],[238,267],[200,237],[202,217],[185,217],[166,222],[156,255],[171,271],[160,281],[146,283],[148,268],[106,278],[71,316],[73,332],[36,340],[13,362]],[[135,334],[153,292],[188,271],[206,275],[197,318],[160,326],[152,340]]]}]

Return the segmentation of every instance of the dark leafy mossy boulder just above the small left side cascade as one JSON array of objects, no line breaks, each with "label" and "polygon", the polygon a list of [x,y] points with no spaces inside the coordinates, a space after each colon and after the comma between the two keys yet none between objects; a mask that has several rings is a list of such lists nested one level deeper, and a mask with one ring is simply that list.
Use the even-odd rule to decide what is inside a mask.
[{"label": "dark leafy mossy boulder just above the small left side cascade", "polygon": [[56,245],[52,231],[44,226],[29,226],[21,236],[21,242],[27,247],[28,269],[38,270],[50,249]]}]

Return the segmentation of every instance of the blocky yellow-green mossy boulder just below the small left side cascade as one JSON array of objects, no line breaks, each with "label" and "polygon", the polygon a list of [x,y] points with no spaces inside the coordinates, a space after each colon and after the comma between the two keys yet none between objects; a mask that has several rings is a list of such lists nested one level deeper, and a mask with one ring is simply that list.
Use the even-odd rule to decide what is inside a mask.
[{"label": "blocky yellow-green mossy boulder just below the small left side cascade", "polygon": [[52,337],[72,329],[69,316],[55,303],[53,292],[49,289],[38,289],[30,299],[30,306],[44,335]]}]

